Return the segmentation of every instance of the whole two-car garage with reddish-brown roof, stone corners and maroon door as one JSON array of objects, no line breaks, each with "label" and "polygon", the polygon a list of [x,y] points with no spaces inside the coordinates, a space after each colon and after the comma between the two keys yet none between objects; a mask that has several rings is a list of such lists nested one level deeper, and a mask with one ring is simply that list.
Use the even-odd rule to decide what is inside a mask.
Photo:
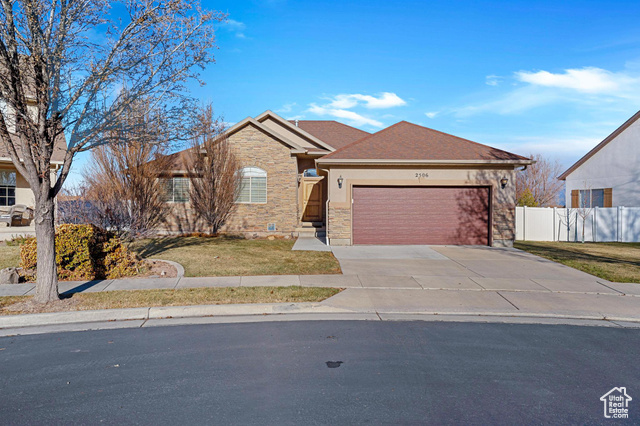
[{"label": "whole two-car garage with reddish-brown roof, stone corners and maroon door", "polygon": [[512,247],[516,170],[530,164],[401,121],[316,160],[327,242]]}]

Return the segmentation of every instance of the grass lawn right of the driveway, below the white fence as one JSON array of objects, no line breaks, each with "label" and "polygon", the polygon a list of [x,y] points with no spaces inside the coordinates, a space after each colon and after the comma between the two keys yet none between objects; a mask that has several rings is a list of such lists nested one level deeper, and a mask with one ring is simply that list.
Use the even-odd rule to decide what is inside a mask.
[{"label": "grass lawn right of the driveway, below the white fence", "polygon": [[640,243],[516,241],[514,247],[608,281],[640,283]]}]

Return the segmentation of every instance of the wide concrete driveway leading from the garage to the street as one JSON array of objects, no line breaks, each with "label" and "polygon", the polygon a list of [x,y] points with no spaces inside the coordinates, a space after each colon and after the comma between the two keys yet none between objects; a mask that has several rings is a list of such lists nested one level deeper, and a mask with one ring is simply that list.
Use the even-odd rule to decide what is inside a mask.
[{"label": "wide concrete driveway leading from the garage to the street", "polygon": [[348,288],[323,304],[395,314],[640,321],[640,284],[611,283],[508,248],[334,247]]}]

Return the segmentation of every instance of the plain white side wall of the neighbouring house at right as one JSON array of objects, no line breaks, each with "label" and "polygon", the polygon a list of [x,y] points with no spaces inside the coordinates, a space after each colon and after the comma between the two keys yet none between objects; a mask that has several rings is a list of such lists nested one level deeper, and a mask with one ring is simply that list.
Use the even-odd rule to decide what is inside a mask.
[{"label": "plain white side wall of the neighbouring house at right", "polygon": [[565,183],[566,203],[574,189],[613,188],[612,206],[640,207],[640,121],[571,173]]}]

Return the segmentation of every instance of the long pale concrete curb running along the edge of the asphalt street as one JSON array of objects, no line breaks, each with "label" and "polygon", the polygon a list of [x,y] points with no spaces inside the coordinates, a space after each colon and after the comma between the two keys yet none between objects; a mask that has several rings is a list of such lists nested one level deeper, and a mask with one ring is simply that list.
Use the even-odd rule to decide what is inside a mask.
[{"label": "long pale concrete curb running along the edge of the asphalt street", "polygon": [[[194,305],[194,306],[163,306],[148,308],[127,308],[127,309],[104,309],[95,311],[68,311],[51,312],[42,314],[7,315],[0,317],[0,330],[9,328],[52,326],[79,323],[97,322],[124,322],[124,321],[147,321],[162,320],[171,318],[207,318],[207,317],[253,317],[256,321],[282,321],[283,316],[288,320],[295,321],[299,314],[319,314],[322,316],[337,317],[345,314],[361,315],[363,319],[371,319],[372,315],[379,320],[383,320],[380,315],[412,316],[424,318],[441,317],[499,317],[499,318],[529,318],[529,319],[554,319],[554,320],[586,320],[586,321],[620,321],[626,323],[637,323],[640,327],[638,317],[615,317],[604,315],[573,315],[573,314],[548,314],[548,313],[514,313],[514,312],[376,312],[373,310],[352,311],[348,309],[334,308],[321,305],[319,303],[273,303],[273,304],[243,304],[243,305]],[[300,315],[305,317],[305,315]]]}]

